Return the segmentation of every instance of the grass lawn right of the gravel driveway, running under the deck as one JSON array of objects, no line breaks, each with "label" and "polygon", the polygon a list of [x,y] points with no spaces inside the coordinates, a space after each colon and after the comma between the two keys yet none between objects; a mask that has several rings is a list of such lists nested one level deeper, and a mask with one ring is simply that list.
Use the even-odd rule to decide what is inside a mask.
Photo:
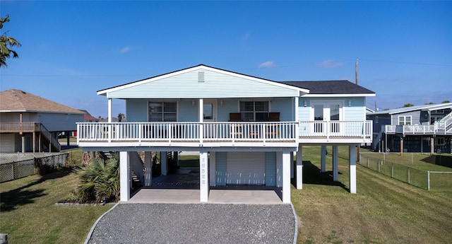
[{"label": "grass lawn right of the gravel driveway, running under the deck", "polygon": [[[304,146],[303,190],[292,189],[298,243],[448,243],[452,192],[427,191],[357,165],[350,194],[348,147],[339,147],[339,181],[320,173],[320,146]],[[332,168],[331,153],[326,159]]]}]

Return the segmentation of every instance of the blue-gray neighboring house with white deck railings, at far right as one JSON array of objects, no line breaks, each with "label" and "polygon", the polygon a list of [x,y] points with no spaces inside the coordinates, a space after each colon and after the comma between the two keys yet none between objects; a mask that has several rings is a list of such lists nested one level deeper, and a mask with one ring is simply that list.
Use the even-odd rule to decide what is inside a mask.
[{"label": "blue-gray neighboring house with white deck railings, at far right", "polygon": [[452,103],[369,112],[374,151],[451,153]]}]

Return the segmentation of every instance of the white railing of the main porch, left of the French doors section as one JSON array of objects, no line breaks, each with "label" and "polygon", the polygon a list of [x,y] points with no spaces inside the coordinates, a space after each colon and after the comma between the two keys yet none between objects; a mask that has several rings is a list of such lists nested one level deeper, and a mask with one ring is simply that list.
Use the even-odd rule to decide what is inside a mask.
[{"label": "white railing of the main porch, left of the French doors section", "polygon": [[297,122],[77,123],[78,141],[295,141]]}]

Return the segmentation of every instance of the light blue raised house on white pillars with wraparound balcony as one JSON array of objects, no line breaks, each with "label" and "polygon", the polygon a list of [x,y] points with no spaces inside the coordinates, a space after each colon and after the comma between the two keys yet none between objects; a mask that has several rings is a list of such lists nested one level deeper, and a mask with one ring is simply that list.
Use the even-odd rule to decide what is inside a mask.
[{"label": "light blue raised house on white pillars with wraparound balcony", "polygon": [[[143,168],[151,185],[151,151],[199,152],[200,201],[209,187],[281,187],[290,202],[290,179],[302,188],[302,146],[333,147],[333,180],[338,180],[338,146],[349,146],[350,192],[356,192],[356,147],[371,142],[366,97],[375,93],[350,81],[276,82],[198,65],[97,91],[126,101],[126,123],[78,123],[85,151],[119,151],[121,201],[130,197],[131,171]],[[294,165],[293,153],[297,152]],[[173,153],[176,155],[177,153]],[[162,174],[168,162],[160,158]],[[137,163],[138,162],[138,163]]]}]

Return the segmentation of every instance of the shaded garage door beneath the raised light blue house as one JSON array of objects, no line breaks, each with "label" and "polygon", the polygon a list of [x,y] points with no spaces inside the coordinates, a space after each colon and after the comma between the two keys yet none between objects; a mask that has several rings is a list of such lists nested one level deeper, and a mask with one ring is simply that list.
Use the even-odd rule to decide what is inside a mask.
[{"label": "shaded garage door beneath the raised light blue house", "polygon": [[226,160],[227,185],[265,185],[265,152],[228,152]]}]

